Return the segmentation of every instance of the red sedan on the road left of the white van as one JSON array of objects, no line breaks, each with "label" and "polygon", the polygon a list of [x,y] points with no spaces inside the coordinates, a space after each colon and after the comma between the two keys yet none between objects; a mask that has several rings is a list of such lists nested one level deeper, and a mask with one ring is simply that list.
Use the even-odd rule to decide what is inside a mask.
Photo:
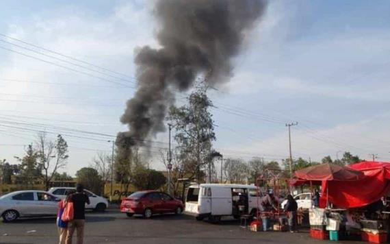
[{"label": "red sedan on the road left of the white van", "polygon": [[166,193],[137,191],[122,199],[120,212],[125,212],[128,217],[144,215],[146,219],[157,213],[173,212],[180,215],[183,212],[183,203]]}]

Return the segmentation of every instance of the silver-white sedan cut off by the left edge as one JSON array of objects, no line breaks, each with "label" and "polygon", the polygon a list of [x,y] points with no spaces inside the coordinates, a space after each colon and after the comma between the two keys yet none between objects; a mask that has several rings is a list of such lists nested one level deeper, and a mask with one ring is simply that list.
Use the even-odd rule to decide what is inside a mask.
[{"label": "silver-white sedan cut off by the left edge", "polygon": [[3,221],[18,217],[56,216],[58,197],[46,191],[15,191],[0,197],[0,215]]}]

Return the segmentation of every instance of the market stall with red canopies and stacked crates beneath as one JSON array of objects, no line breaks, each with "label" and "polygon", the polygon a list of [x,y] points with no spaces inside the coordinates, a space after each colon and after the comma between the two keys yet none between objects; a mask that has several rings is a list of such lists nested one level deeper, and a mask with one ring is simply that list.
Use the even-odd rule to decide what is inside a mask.
[{"label": "market stall with red canopies and stacked crates beneath", "polygon": [[389,217],[381,198],[390,192],[390,163],[320,164],[296,171],[290,184],[321,186],[320,208],[309,213],[313,238],[386,241]]}]

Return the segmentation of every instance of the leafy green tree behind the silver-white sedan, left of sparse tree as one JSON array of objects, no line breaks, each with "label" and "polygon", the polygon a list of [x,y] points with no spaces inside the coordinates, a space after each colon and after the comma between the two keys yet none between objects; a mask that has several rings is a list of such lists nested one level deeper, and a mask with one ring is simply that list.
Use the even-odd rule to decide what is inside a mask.
[{"label": "leafy green tree behind the silver-white sedan, left of sparse tree", "polygon": [[28,145],[27,149],[25,149],[25,156],[23,158],[15,158],[21,162],[19,165],[20,173],[16,183],[23,184],[26,188],[33,188],[34,180],[41,175],[37,162],[37,152],[33,149],[32,145]]}]

